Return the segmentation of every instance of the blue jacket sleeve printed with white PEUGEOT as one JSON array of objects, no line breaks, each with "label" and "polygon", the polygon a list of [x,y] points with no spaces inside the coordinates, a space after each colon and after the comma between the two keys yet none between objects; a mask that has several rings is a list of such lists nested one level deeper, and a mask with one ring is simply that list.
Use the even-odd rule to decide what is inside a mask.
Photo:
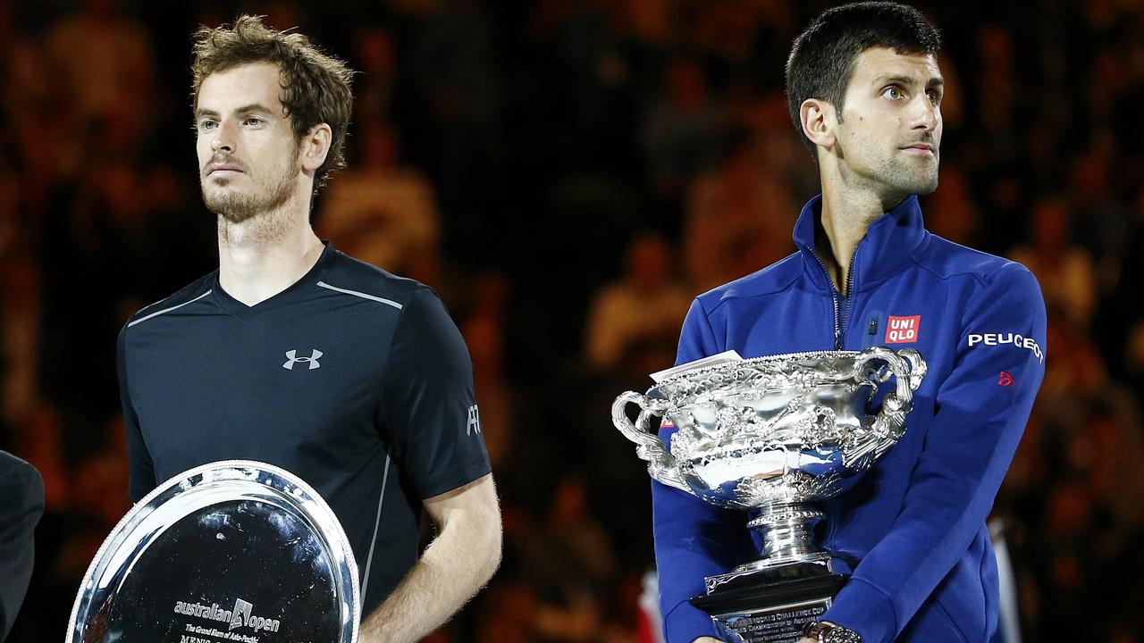
[{"label": "blue jacket sleeve printed with white PEUGEOT", "polygon": [[966,309],[901,513],[824,620],[865,643],[891,641],[964,555],[1020,442],[1044,375],[1044,340],[1036,279],[1009,263]]}]

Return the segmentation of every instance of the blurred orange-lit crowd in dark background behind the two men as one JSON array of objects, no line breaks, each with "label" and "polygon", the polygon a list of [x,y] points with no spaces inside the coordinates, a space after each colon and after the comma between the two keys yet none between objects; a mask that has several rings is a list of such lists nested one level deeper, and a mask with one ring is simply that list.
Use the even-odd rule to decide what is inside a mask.
[{"label": "blurred orange-lit crowd in dark background behind the two men", "polygon": [[[359,70],[315,225],[434,286],[505,511],[438,642],[630,642],[648,475],[609,405],[691,297],[791,252],[817,175],[787,116],[794,0],[0,0],[0,448],[47,486],[13,643],[58,641],[129,508],[116,334],[216,267],[191,32],[264,14]],[[1025,263],[1044,384],[998,499],[1025,641],[1144,641],[1144,6],[917,2],[942,29],[928,228]]]}]

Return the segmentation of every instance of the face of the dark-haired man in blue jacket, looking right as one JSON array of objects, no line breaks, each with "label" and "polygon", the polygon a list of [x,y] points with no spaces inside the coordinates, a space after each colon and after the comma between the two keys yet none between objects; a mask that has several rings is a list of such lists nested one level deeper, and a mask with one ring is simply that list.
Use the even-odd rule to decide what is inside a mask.
[{"label": "face of the dark-haired man in blue jacket, looking right", "polygon": [[843,172],[883,196],[937,189],[942,90],[932,55],[883,47],[859,54],[837,125]]}]

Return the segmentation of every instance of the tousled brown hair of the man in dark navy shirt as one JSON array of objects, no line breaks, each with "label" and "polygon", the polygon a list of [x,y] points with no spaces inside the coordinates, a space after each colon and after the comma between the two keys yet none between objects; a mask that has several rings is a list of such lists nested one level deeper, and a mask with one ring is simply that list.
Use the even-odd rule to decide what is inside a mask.
[{"label": "tousled brown hair of the man in dark navy shirt", "polygon": [[239,16],[232,27],[199,27],[193,53],[191,109],[198,108],[199,89],[212,73],[249,63],[273,63],[283,88],[278,100],[294,135],[301,140],[323,122],[333,134],[329,153],[313,175],[315,191],[325,185],[328,173],[345,167],[342,146],[353,111],[353,71],[344,62],[323,53],[301,33],[277,31],[264,25],[260,16],[247,15]]}]

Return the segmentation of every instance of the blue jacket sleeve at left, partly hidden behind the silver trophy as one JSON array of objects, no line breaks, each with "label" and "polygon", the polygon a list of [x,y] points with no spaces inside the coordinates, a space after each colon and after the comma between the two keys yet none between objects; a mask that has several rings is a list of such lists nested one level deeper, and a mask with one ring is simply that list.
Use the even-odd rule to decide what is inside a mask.
[{"label": "blue jacket sleeve at left, partly hidden behind the silver trophy", "polygon": [[[702,304],[696,300],[683,322],[676,365],[720,351]],[[670,444],[674,432],[674,427],[664,427],[660,437]],[[688,600],[704,594],[704,577],[736,564],[734,555],[747,538],[745,518],[656,481],[651,492],[664,636],[667,643],[716,636],[710,617]]]}]

